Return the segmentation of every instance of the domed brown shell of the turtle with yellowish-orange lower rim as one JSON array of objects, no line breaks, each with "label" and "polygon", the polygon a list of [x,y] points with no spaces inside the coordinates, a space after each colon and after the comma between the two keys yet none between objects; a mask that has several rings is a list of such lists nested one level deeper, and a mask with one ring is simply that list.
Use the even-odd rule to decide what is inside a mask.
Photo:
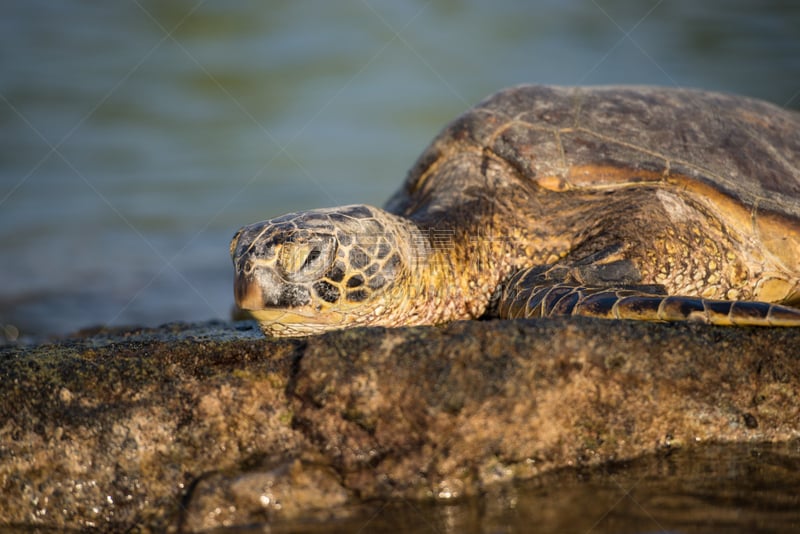
[{"label": "domed brown shell of the turtle with yellowish-orange lower rim", "polygon": [[[513,87],[448,125],[387,209],[413,217],[431,199],[458,202],[485,187],[485,169],[463,154],[504,162],[506,179],[547,191],[666,187],[691,195],[800,272],[800,113],[690,89]],[[459,190],[452,181],[443,190],[437,168],[459,158]]]}]

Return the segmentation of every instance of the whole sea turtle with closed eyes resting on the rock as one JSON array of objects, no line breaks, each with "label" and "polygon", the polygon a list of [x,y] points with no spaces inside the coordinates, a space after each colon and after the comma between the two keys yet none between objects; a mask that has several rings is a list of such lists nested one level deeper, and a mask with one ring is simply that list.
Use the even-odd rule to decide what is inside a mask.
[{"label": "whole sea turtle with closed eyes resting on the rock", "polygon": [[800,114],[513,87],[448,125],[385,210],[291,213],[230,252],[237,305],[275,336],[551,315],[798,326]]}]

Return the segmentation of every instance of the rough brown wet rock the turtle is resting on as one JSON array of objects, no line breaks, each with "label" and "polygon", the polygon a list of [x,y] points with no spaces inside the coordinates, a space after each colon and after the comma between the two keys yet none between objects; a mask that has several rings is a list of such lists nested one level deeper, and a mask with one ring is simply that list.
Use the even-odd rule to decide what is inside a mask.
[{"label": "rough brown wet rock the turtle is resting on", "polygon": [[7,346],[0,377],[6,526],[345,528],[370,502],[800,438],[798,329],[167,325]]}]

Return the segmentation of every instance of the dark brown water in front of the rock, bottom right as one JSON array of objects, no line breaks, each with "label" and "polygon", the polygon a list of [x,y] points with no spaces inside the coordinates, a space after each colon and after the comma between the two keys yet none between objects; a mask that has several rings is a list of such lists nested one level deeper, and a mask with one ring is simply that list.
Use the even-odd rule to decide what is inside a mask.
[{"label": "dark brown water in front of the rock, bottom right", "polygon": [[800,443],[711,445],[565,469],[451,505],[379,503],[270,532],[709,533],[800,531]]}]

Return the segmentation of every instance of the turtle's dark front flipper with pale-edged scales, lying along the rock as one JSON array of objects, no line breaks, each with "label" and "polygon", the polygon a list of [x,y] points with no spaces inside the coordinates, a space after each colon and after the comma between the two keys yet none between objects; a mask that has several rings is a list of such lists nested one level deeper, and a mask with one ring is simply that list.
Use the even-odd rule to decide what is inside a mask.
[{"label": "turtle's dark front flipper with pale-edged scales, lying along the rock", "polygon": [[661,294],[658,286],[589,287],[548,280],[541,268],[520,271],[497,304],[505,319],[582,315],[637,321],[715,325],[800,326],[800,310],[766,302],[709,300]]}]

